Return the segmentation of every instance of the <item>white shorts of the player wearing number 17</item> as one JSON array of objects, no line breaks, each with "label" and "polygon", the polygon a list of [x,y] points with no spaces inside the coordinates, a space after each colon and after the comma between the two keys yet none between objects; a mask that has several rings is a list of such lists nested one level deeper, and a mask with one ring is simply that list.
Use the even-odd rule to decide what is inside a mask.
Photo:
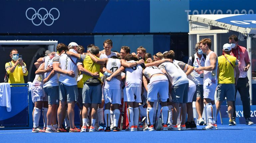
[{"label": "white shorts of the player wearing number 17", "polygon": [[121,104],[121,90],[120,89],[105,89],[104,88],[105,103]]}]

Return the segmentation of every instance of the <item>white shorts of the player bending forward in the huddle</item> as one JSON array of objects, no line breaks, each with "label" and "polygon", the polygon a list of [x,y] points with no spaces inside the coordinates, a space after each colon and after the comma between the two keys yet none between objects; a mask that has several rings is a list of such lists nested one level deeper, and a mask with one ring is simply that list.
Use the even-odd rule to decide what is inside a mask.
[{"label": "white shorts of the player bending forward in the huddle", "polygon": [[160,94],[161,101],[165,102],[169,98],[169,82],[166,76],[155,76],[148,84],[148,101],[157,100],[157,93]]}]

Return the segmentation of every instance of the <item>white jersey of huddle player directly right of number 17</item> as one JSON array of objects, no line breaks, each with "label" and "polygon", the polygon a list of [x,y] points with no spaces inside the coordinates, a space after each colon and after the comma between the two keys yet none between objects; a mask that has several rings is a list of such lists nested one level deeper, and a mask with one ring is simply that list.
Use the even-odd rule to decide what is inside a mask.
[{"label": "white jersey of huddle player directly right of number 17", "polygon": [[[128,63],[135,62],[134,60],[127,61]],[[141,65],[131,68],[125,68],[125,85],[126,87],[141,87],[142,86],[142,70]]]}]

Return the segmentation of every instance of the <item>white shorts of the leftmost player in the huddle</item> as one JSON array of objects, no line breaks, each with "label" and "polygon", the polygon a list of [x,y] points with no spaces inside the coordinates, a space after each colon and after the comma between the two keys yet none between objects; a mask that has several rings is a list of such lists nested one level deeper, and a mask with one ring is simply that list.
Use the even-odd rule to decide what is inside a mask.
[{"label": "white shorts of the leftmost player in the huddle", "polygon": [[48,96],[45,96],[45,91],[41,86],[31,89],[31,98],[33,103],[37,101],[48,101]]}]

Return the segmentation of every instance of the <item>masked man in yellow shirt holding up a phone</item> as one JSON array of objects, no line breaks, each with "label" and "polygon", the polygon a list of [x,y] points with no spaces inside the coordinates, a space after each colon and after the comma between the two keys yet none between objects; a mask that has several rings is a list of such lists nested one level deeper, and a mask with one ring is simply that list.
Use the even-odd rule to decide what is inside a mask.
[{"label": "masked man in yellow shirt holding up a phone", "polygon": [[[24,84],[24,76],[28,75],[26,64],[23,62],[23,59],[19,58],[17,49],[11,50],[10,57],[12,58],[12,61],[5,63],[5,70],[9,74],[8,83]],[[22,72],[22,66],[25,66],[25,73]]]}]

